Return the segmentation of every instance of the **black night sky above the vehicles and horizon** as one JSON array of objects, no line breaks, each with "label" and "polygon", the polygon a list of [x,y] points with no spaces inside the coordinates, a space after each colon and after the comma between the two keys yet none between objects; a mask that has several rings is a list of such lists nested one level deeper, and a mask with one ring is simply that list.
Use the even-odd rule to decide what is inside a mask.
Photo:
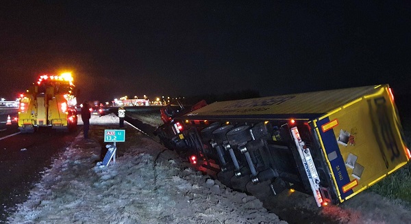
[{"label": "black night sky above the vehicles and horizon", "polygon": [[62,71],[81,100],[384,83],[411,94],[411,1],[30,2],[0,6],[0,97]]}]

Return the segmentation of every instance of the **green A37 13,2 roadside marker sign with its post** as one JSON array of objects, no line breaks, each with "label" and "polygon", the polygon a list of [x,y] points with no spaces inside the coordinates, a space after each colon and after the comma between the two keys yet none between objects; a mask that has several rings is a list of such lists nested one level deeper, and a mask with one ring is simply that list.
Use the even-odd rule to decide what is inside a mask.
[{"label": "green A37 13,2 roadside marker sign with its post", "polygon": [[103,162],[97,163],[100,167],[108,166],[111,160],[116,163],[116,142],[125,141],[125,130],[104,130],[104,142],[112,142],[114,145],[105,145],[108,148],[104,156]]}]

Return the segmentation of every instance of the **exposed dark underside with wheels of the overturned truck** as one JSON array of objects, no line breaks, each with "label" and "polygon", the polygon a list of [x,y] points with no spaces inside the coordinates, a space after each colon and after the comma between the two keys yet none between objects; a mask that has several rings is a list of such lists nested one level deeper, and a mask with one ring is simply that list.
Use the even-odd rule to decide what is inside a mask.
[{"label": "exposed dark underside with wheels of the overturned truck", "polygon": [[[288,121],[176,121],[185,123],[184,130],[173,137],[164,136],[169,131],[159,133],[164,145],[188,158],[198,169],[214,171],[226,186],[243,192],[259,189],[271,195],[288,188],[313,194]],[[321,151],[314,150],[318,145],[311,138],[309,126],[298,128],[319,170],[321,202],[337,204],[336,193],[329,187],[329,171],[322,163]]]}]

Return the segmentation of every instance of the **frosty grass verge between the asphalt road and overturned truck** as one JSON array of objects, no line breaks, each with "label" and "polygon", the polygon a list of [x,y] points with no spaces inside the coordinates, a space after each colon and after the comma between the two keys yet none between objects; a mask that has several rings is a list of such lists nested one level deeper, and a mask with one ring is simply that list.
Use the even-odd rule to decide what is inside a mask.
[{"label": "frosty grass verge between the asphalt road and overturned truck", "polygon": [[[98,167],[103,130],[115,115],[92,117],[66,148],[10,223],[286,223],[256,197],[225,188],[191,169],[175,152],[126,126],[116,163]],[[101,125],[104,124],[104,125]]]}]

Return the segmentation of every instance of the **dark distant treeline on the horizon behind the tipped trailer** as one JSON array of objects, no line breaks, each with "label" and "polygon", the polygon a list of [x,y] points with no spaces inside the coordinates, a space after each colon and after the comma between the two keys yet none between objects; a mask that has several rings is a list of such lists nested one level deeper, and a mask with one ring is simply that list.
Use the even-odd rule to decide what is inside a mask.
[{"label": "dark distant treeline on the horizon behind the tipped trailer", "polygon": [[184,100],[182,100],[183,104],[195,104],[200,100],[206,100],[208,104],[216,101],[226,101],[226,100],[241,100],[241,99],[248,99],[248,98],[258,98],[260,97],[260,92],[256,90],[241,90],[238,92],[227,92],[224,94],[206,94],[206,95],[198,95],[198,96],[186,96]]}]

